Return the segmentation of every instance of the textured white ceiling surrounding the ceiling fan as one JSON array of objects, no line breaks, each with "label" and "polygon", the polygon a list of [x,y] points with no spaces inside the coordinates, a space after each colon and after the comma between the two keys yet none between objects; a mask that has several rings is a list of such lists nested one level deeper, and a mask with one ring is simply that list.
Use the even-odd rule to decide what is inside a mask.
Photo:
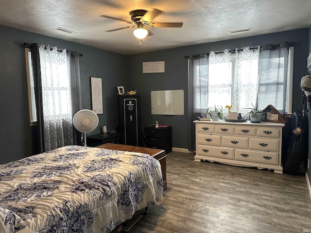
[{"label": "textured white ceiling surrounding the ceiling fan", "polygon": [[[151,28],[142,40],[126,22],[135,9],[163,11],[154,22],[183,22],[181,28]],[[121,54],[175,48],[251,35],[307,28],[311,0],[0,0],[0,24]],[[65,28],[74,34],[53,28]],[[229,31],[252,28],[230,34]]]}]

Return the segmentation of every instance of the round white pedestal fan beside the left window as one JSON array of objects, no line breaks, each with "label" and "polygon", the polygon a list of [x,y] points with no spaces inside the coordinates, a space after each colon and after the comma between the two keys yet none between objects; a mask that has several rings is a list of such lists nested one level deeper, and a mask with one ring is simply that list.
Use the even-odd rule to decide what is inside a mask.
[{"label": "round white pedestal fan beside the left window", "polygon": [[98,126],[98,116],[92,110],[82,109],[72,119],[74,127],[84,133],[84,146],[86,147],[86,133],[91,133]]}]

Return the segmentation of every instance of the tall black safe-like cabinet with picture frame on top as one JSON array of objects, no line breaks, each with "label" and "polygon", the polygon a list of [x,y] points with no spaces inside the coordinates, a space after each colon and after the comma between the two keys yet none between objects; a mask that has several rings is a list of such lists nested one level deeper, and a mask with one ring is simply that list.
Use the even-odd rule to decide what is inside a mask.
[{"label": "tall black safe-like cabinet with picture frame on top", "polygon": [[119,95],[119,128],[121,144],[141,146],[139,95]]}]

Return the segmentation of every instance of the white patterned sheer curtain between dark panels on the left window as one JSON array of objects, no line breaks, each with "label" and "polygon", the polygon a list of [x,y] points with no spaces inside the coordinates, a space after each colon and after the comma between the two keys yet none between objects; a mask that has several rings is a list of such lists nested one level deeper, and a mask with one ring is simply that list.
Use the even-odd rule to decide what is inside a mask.
[{"label": "white patterned sheer curtain between dark panels on the left window", "polygon": [[66,49],[39,46],[45,150],[73,144]]}]

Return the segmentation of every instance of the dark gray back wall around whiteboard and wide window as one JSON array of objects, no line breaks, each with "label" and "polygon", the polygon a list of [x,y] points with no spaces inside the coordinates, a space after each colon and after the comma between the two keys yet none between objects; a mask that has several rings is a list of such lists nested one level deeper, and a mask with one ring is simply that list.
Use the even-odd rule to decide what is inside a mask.
[{"label": "dark gray back wall around whiteboard and wide window", "polygon": [[[296,43],[296,46],[294,47],[293,112],[301,112],[302,96],[299,83],[301,77],[306,73],[306,57],[308,56],[308,28],[127,55],[126,70],[129,88],[134,88],[141,94],[142,130],[144,127],[154,124],[156,120],[159,124],[170,124],[172,125],[173,130],[173,147],[188,149],[187,122],[192,119],[188,119],[187,115],[188,60],[184,59],[184,56],[209,52],[211,50],[235,49],[263,44],[277,44],[283,41]],[[148,46],[148,40],[143,42],[141,46]],[[165,73],[142,73],[142,62],[152,61],[165,61]],[[150,91],[170,89],[185,90],[185,115],[151,115]]]}]

